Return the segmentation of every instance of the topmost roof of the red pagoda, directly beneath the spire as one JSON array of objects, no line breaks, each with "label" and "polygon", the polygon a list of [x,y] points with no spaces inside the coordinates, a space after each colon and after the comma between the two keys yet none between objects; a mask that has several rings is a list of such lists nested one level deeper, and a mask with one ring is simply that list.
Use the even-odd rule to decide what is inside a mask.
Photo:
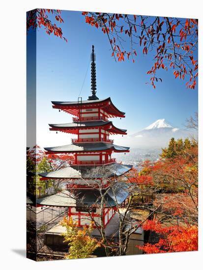
[{"label": "topmost roof of the red pagoda, directly beneath the spire", "polygon": [[95,99],[95,100],[82,100],[78,101],[52,101],[53,108],[61,109],[65,112],[78,116],[80,108],[102,108],[110,117],[125,117],[125,112],[120,111],[111,101],[111,98]]}]

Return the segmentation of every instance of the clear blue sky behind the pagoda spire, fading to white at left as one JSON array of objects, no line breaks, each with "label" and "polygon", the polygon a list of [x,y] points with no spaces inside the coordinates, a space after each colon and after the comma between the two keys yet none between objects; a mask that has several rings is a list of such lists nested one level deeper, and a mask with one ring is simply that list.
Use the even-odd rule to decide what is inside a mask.
[{"label": "clear blue sky behind the pagoda spire, fading to white at left", "polygon": [[[68,43],[43,29],[37,30],[37,142],[42,146],[70,143],[66,134],[49,131],[48,123],[71,122],[72,116],[53,109],[51,100],[74,101],[78,99],[87,66],[91,45],[95,46],[97,96],[111,96],[113,103],[126,112],[126,118],[114,119],[119,128],[128,134],[142,130],[152,122],[165,118],[175,127],[182,127],[185,119],[198,110],[198,88],[185,88],[186,81],[174,79],[172,70],[161,71],[163,82],[154,90],[146,75],[153,62],[150,55],[138,49],[136,62],[115,62],[107,36],[96,27],[85,23],[81,12],[62,11],[64,23],[60,25]],[[90,95],[90,65],[81,93],[83,99]]]}]

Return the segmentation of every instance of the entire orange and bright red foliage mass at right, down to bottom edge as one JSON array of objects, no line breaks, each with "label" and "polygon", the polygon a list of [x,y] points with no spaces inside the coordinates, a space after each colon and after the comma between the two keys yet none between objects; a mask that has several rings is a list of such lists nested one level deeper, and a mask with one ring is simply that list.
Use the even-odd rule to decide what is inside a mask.
[{"label": "entire orange and bright red foliage mass at right, down to bottom edge", "polygon": [[[198,142],[171,139],[157,162],[145,162],[142,173],[159,187],[153,200],[159,207],[145,231],[159,235],[157,243],[146,243],[145,253],[198,250]],[[170,192],[166,193],[170,185]],[[169,226],[169,224],[171,224]]]}]

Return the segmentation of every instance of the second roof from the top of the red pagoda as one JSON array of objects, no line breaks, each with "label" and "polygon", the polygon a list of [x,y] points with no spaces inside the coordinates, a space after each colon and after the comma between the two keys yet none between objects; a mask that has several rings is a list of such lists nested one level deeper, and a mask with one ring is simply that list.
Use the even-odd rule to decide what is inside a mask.
[{"label": "second roof from the top of the red pagoda", "polygon": [[54,131],[62,131],[66,133],[78,134],[78,130],[80,129],[91,129],[97,127],[106,128],[111,134],[126,134],[127,130],[116,128],[112,121],[86,121],[79,123],[65,123],[65,124],[49,124],[51,127],[50,130]]}]

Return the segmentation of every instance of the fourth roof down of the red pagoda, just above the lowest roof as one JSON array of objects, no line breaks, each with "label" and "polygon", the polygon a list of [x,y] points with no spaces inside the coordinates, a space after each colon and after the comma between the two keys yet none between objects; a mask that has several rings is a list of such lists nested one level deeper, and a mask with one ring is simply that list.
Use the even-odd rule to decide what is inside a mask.
[{"label": "fourth roof down of the red pagoda, just above the lowest roof", "polygon": [[[47,179],[88,179],[88,178],[102,178],[104,173],[99,168],[105,168],[105,177],[118,177],[129,171],[133,165],[125,165],[119,163],[111,163],[104,166],[96,166],[97,169],[92,170],[92,166],[80,166],[72,165],[63,169],[52,172],[39,173],[39,176],[43,177],[42,180]],[[95,168],[95,167],[93,167]]]}]

